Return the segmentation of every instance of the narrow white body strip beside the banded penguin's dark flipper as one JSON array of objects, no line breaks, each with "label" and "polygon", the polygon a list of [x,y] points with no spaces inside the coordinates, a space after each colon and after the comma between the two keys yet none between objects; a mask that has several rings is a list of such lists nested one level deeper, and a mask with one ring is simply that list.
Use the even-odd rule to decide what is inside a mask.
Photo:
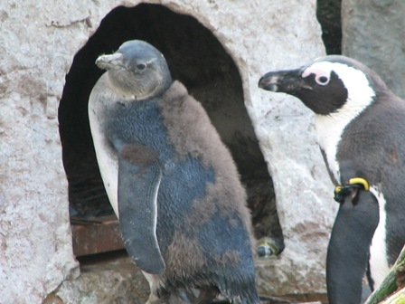
[{"label": "narrow white body strip beside the banded penguin's dark flipper", "polygon": [[384,280],[385,276],[390,271],[386,247],[387,213],[385,211],[385,206],[387,202],[377,186],[372,185],[370,187],[370,191],[378,200],[380,216],[377,229],[372,237],[372,245],[370,247],[370,272],[372,275],[372,280],[374,281],[373,287],[376,289],[381,285],[382,280]]}]

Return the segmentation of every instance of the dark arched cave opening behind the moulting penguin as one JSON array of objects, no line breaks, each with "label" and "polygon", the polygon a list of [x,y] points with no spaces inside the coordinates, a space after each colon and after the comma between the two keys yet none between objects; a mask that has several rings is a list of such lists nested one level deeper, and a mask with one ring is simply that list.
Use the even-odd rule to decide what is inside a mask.
[{"label": "dark arched cave opening behind the moulting penguin", "polygon": [[101,53],[139,39],[164,53],[173,78],[199,100],[230,148],[249,195],[255,235],[283,239],[267,165],[244,107],[240,73],[214,35],[190,15],[163,5],[118,6],[75,55],[59,107],[62,157],[69,182],[71,219],[113,214],[89,131],[89,93],[103,71]]}]

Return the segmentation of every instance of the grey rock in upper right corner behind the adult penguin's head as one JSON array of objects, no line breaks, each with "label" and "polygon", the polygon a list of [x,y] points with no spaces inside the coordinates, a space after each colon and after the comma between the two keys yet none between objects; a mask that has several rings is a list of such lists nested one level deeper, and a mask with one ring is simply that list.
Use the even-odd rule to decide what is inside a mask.
[{"label": "grey rock in upper right corner behind the adult penguin's head", "polygon": [[387,86],[405,98],[405,2],[342,1],[344,55],[376,71]]}]

